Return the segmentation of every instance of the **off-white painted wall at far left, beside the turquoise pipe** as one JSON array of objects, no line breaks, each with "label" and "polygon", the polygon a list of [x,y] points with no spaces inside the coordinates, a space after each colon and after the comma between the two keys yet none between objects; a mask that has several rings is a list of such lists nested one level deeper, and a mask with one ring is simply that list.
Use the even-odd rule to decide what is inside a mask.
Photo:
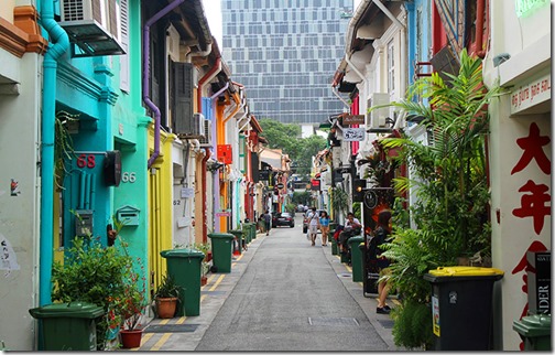
[{"label": "off-white painted wall at far left, beside the turquoise pipe", "polygon": [[29,309],[39,305],[42,56],[18,58],[0,49],[0,76],[19,83],[19,95],[0,95],[0,337],[11,351],[33,351],[36,323]]}]

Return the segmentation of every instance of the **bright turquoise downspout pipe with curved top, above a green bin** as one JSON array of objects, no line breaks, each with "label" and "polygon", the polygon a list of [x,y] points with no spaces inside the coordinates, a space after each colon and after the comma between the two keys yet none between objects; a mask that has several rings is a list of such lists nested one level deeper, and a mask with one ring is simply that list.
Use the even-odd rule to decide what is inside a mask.
[{"label": "bright turquoise downspout pipe with curved top, above a green bin", "polygon": [[52,303],[52,263],[54,255],[54,140],[56,125],[57,61],[69,47],[67,33],[54,20],[54,0],[41,8],[41,22],[51,37],[43,61],[42,143],[41,143],[41,240],[39,304]]}]

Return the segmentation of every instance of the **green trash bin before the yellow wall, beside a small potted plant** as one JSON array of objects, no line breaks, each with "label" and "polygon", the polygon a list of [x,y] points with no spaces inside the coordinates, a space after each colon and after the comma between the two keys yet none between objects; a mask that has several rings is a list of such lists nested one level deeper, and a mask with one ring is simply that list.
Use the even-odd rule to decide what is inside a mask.
[{"label": "green trash bin before the yellow wall, beside a small potted plant", "polygon": [[177,316],[199,315],[204,252],[195,249],[170,249],[160,251],[160,255],[166,259],[167,275],[181,287],[175,314]]}]

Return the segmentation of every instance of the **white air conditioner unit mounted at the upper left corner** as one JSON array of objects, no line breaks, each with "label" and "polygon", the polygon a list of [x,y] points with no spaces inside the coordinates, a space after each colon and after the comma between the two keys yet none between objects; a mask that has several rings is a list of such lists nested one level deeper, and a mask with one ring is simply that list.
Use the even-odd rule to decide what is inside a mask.
[{"label": "white air conditioner unit mounted at the upper left corner", "polygon": [[122,17],[127,19],[127,0],[61,0],[59,25],[80,50],[72,49],[74,57],[124,54]]}]

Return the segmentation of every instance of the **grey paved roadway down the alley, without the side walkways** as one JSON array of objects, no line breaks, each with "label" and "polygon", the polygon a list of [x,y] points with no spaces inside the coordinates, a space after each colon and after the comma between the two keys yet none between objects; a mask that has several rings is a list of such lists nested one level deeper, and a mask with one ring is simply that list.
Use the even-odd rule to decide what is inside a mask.
[{"label": "grey paved roadway down the alley, without the side walkways", "polygon": [[[362,294],[361,286],[330,256],[330,245],[322,247],[318,237],[311,246],[301,228],[297,215],[294,228],[264,237],[196,351],[394,349],[348,292],[350,286]],[[366,311],[376,312],[374,303]]]}]

